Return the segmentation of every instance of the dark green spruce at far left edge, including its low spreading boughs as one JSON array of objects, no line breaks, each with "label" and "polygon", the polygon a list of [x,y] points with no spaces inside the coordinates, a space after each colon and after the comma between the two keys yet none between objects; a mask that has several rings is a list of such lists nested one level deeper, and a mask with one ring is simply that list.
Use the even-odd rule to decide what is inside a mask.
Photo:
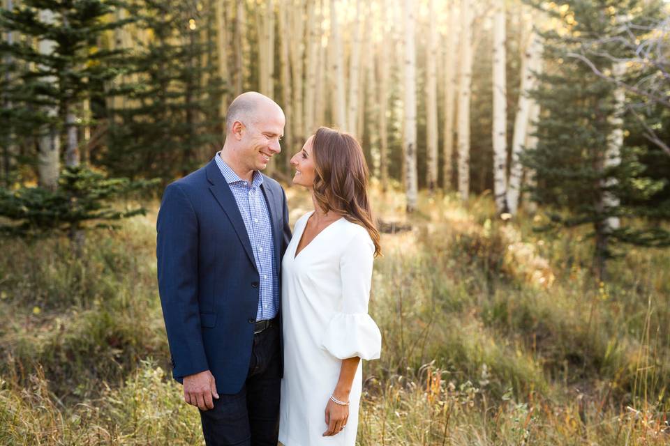
[{"label": "dark green spruce at far left edge, including its low spreading boughs", "polygon": [[[7,68],[14,70],[3,85],[13,105],[8,111],[10,132],[32,141],[31,131],[39,129],[38,151],[27,151],[25,156],[36,165],[40,184],[0,190],[0,216],[10,220],[3,224],[3,233],[66,231],[77,251],[84,241],[85,221],[118,220],[144,212],[142,208],[116,211],[105,201],[148,183],[105,178],[80,164],[78,133],[80,116],[87,112],[84,104],[92,98],[102,100],[98,86],[123,70],[119,51],[98,46],[107,31],[131,21],[110,20],[120,6],[120,1],[112,0],[26,0],[2,11],[3,29],[21,35],[1,47],[5,60],[13,61]],[[110,60],[119,64],[111,66]],[[66,169],[61,171],[64,132]]]}]

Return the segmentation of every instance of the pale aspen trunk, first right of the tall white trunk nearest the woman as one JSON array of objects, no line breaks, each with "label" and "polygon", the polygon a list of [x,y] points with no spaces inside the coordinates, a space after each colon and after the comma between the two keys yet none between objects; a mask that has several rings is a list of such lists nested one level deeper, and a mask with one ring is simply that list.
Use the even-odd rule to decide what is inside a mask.
[{"label": "pale aspen trunk, first right of the tall white trunk nearest the woman", "polygon": [[438,185],[438,26],[434,0],[429,1],[429,42],[426,47],[426,173],[428,189]]}]

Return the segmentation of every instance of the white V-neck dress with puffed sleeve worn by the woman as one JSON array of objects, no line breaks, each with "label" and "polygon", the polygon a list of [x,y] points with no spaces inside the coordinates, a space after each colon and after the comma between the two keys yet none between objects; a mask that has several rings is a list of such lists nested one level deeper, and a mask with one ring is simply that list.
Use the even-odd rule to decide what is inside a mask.
[{"label": "white V-neck dress with puffed sleeve worn by the woman", "polygon": [[331,437],[322,433],[341,360],[380,356],[382,336],[368,315],[375,248],[363,226],[341,218],[295,256],[310,215],[296,222],[281,263],[284,377],[279,441],[285,446],[354,446],[362,361],[352,384],[347,425]]}]

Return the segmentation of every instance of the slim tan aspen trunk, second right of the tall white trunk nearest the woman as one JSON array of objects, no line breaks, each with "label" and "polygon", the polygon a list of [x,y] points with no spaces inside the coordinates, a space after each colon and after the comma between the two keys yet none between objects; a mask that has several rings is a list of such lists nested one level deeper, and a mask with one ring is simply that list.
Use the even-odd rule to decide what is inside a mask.
[{"label": "slim tan aspen trunk, second right of the tall white trunk nearest the woman", "polygon": [[442,135],[442,187],[449,190],[452,187],[452,159],[454,157],[454,118],[456,117],[456,91],[458,90],[458,70],[456,55],[459,54],[457,39],[459,32],[459,15],[456,14],[456,2],[449,3],[449,28],[445,39],[445,124]]}]

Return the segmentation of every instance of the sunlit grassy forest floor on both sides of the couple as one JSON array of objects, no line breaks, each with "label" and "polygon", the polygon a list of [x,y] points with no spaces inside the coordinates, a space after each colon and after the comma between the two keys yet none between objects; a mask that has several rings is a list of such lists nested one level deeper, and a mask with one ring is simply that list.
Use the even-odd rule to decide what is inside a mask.
[{"label": "sunlit grassy forest floor on both sides of the couple", "polygon": [[[287,190],[291,221],[311,209]],[[373,187],[385,223],[359,445],[670,445],[670,251],[623,247],[609,282],[588,231],[537,233],[490,196]],[[170,379],[157,203],[114,231],[3,240],[0,445],[204,444]],[[224,255],[222,253],[222,255]]]}]

